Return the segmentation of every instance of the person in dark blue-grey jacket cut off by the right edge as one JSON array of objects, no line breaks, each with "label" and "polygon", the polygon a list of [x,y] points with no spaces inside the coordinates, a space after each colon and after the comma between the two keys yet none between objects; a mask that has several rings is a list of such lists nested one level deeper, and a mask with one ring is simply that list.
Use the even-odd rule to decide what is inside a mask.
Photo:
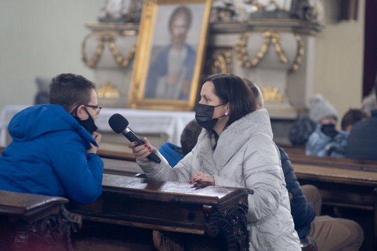
[{"label": "person in dark blue-grey jacket cut off by the right edge", "polygon": [[[377,96],[377,84],[374,85]],[[347,142],[347,157],[377,160],[377,109],[371,117],[354,124]]]}]

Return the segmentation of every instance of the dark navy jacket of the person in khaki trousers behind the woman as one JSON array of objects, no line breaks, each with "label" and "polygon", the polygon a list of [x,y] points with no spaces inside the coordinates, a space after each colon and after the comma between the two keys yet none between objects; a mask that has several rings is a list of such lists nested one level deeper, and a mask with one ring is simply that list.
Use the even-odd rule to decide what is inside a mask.
[{"label": "dark navy jacket of the person in khaki trousers behind the woman", "polygon": [[300,238],[310,233],[310,223],[314,220],[316,213],[312,203],[308,202],[300,183],[297,181],[292,163],[287,153],[279,147],[281,167],[287,183],[288,192],[292,193],[291,214],[295,222],[295,229]]}]

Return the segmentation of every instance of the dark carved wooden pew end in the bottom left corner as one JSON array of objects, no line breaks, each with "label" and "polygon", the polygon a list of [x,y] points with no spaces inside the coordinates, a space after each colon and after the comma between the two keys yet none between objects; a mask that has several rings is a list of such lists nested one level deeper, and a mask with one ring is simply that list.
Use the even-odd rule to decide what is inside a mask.
[{"label": "dark carved wooden pew end in the bottom left corner", "polygon": [[68,212],[68,199],[0,190],[1,250],[74,250],[71,232],[81,218]]}]

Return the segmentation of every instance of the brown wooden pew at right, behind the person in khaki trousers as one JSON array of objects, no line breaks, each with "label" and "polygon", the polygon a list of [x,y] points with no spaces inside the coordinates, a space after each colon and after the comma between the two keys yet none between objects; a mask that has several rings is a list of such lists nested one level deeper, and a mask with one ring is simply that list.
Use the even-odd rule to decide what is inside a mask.
[{"label": "brown wooden pew at right, behind the person in khaki trousers", "polygon": [[364,229],[364,250],[375,250],[377,161],[307,156],[304,148],[283,149],[290,157],[300,184],[315,185],[322,195],[325,207],[332,207],[337,216],[358,221]]}]

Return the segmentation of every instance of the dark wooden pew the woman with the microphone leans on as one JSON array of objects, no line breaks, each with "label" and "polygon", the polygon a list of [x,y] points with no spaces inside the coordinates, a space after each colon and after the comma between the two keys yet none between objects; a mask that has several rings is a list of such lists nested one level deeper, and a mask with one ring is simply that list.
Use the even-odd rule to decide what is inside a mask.
[{"label": "dark wooden pew the woman with the microphone leans on", "polygon": [[[69,211],[84,220],[76,238],[78,250],[101,243],[85,234],[85,224],[90,225],[89,231],[115,228],[127,233],[107,235],[107,248],[112,250],[122,250],[131,240],[139,246],[149,243],[144,249],[153,249],[153,243],[158,250],[248,250],[249,192],[104,174],[100,198],[89,205],[71,202]],[[133,231],[141,232],[139,239],[134,235],[129,239]]]}]

